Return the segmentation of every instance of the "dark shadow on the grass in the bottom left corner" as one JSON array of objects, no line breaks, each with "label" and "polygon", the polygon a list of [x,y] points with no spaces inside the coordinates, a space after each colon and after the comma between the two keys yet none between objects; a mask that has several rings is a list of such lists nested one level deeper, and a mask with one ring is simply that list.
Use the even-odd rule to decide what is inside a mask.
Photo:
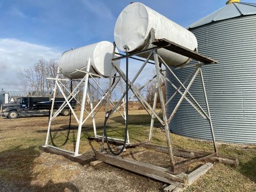
[{"label": "dark shadow on the grass in the bottom left corner", "polygon": [[[79,189],[70,182],[54,183],[49,180],[44,186],[31,185],[33,178],[38,174],[33,172],[35,166],[34,160],[40,153],[35,150],[37,146],[22,148],[21,145],[0,153],[0,177],[4,186],[11,186],[14,191],[79,191]],[[9,191],[8,188],[5,188]]]}]

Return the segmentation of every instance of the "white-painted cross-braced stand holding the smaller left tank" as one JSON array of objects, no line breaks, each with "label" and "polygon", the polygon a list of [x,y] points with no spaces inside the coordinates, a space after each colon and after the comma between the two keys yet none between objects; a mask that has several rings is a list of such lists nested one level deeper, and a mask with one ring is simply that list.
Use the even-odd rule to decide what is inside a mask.
[{"label": "white-painted cross-braced stand holding the smaller left tank", "polygon": [[[113,91],[113,89],[117,86],[117,83],[119,82],[120,77],[115,77],[115,82],[113,82],[111,88],[108,91],[104,92],[103,89],[100,87],[100,84],[95,79],[95,77],[100,78],[100,77],[103,77],[103,76],[91,73],[90,72],[90,67],[91,67],[91,60],[90,60],[90,58],[88,58],[86,71],[83,71],[83,70],[80,70],[80,69],[76,70],[76,71],[85,73],[85,76],[82,79],[60,79],[59,78],[59,74],[60,74],[59,68],[57,70],[56,78],[48,78],[48,79],[51,79],[51,80],[55,81],[55,87],[54,87],[54,91],[53,91],[53,98],[51,99],[52,105],[51,105],[51,110],[50,110],[50,115],[49,115],[49,124],[48,124],[46,142],[45,142],[44,146],[40,147],[40,149],[42,151],[53,152],[53,153],[56,152],[56,154],[63,155],[65,157],[68,156],[67,154],[69,154],[70,156],[73,156],[73,157],[80,156],[80,154],[79,154],[79,144],[80,144],[82,125],[90,117],[91,117],[92,122],[93,122],[93,131],[94,131],[94,136],[91,137],[91,138],[101,140],[102,136],[97,135],[95,115],[99,111],[101,106],[104,104],[104,101],[107,98],[108,92],[111,93]],[[101,90],[101,92],[98,89],[96,89],[93,86],[92,83],[90,83],[89,77],[90,77],[91,80],[93,80],[96,83],[97,87],[99,88],[99,90]],[[65,87],[65,85],[62,83],[63,81],[70,81],[71,84],[72,84],[72,82],[76,82],[76,86],[75,86],[74,89],[72,89],[72,86],[71,86],[71,90],[68,90]],[[95,106],[93,106],[95,104],[95,102],[92,100],[92,90],[97,91],[99,93],[99,95],[101,95],[101,99],[96,103]],[[61,93],[62,97],[65,98],[65,102],[63,102],[61,104],[61,106],[57,109],[57,111],[54,111],[54,101],[56,99],[57,93],[59,93],[59,92]],[[66,95],[65,92],[68,92],[68,95]],[[82,92],[82,101],[81,101],[81,103],[76,99],[76,96],[79,92]],[[75,113],[74,109],[71,106],[72,100],[76,100],[76,102],[81,105],[81,110],[80,110],[79,117]],[[85,108],[86,102],[89,102],[89,104],[90,104],[90,109],[91,109],[90,112],[87,111],[86,108]],[[111,100],[110,100],[110,103],[112,105],[114,105],[114,103]],[[52,121],[59,115],[59,113],[63,109],[65,109],[67,107],[70,109],[70,112],[73,114],[73,116],[75,117],[76,122],[78,123],[75,151],[64,150],[63,148],[60,148],[59,146],[56,146],[55,144],[53,144],[52,138],[51,138],[51,142],[49,143],[49,137],[51,137]],[[86,112],[88,114],[85,118],[84,118],[84,112]],[[71,123],[71,113],[70,113],[69,123]],[[119,112],[119,114],[124,119],[126,118],[125,115],[121,114],[121,112]],[[69,130],[70,130],[70,124],[69,124]],[[61,146],[66,144],[66,142],[68,141],[68,137],[69,137],[69,134],[67,136],[66,141],[63,142],[63,144]],[[115,140],[115,139],[113,138],[113,140]],[[49,147],[50,147],[50,149],[49,149]],[[52,150],[52,149],[54,149],[54,150]],[[62,154],[60,152],[62,152]],[[71,160],[76,161],[76,159],[74,159],[74,158],[71,158]],[[77,160],[80,162],[81,158],[78,158]]]}]

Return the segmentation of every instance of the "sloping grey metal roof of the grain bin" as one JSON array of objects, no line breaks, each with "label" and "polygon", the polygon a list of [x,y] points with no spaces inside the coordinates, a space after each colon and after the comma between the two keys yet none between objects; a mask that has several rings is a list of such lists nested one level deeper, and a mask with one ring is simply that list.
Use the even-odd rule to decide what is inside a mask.
[{"label": "sloping grey metal roof of the grain bin", "polygon": [[256,4],[243,2],[230,3],[188,26],[188,29],[203,26],[212,22],[218,22],[220,20],[254,14],[256,14]]}]

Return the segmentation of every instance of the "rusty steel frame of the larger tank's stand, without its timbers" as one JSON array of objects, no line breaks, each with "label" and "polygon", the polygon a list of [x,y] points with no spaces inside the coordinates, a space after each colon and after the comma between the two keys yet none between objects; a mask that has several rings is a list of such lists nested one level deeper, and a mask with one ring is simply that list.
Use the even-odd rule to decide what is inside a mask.
[{"label": "rusty steel frame of the larger tank's stand, without its timbers", "polygon": [[[153,45],[155,45],[156,42],[159,42],[159,40],[160,41],[162,40],[162,39],[155,39],[155,30],[154,29],[151,30],[149,39],[150,39],[149,43],[152,43]],[[174,71],[165,63],[165,61],[161,58],[161,56],[158,55],[158,49],[163,48],[163,49],[170,50],[169,46],[173,45],[173,44],[172,44],[172,42],[168,41],[164,44],[164,46],[153,46],[152,48],[149,48],[149,49],[146,49],[146,50],[137,51],[137,52],[128,54],[128,58],[144,61],[142,67],[139,69],[139,71],[135,75],[134,79],[132,81],[130,81],[128,79],[128,82],[129,82],[129,89],[134,93],[134,95],[132,97],[135,96],[141,102],[141,104],[143,105],[143,107],[147,111],[147,113],[151,116],[150,134],[149,134],[147,143],[151,144],[151,142],[152,142],[154,120],[155,120],[155,118],[157,118],[161,122],[161,124],[164,126],[164,130],[165,130],[165,137],[166,137],[166,142],[167,142],[167,146],[168,146],[167,148],[168,148],[168,155],[169,155],[169,162],[170,162],[170,171],[174,174],[177,174],[177,173],[181,173],[181,171],[184,169],[184,167],[188,167],[188,165],[190,165],[192,163],[208,159],[211,156],[217,156],[218,155],[218,150],[217,150],[217,145],[216,145],[216,140],[215,140],[215,135],[214,135],[214,129],[212,127],[210,111],[209,111],[209,106],[208,106],[208,100],[207,100],[207,95],[206,95],[206,91],[205,91],[203,73],[202,73],[202,69],[201,69],[202,65],[207,65],[209,63],[217,63],[217,61],[214,60],[214,59],[211,59],[209,57],[203,56],[203,55],[201,55],[201,54],[199,54],[195,51],[190,50],[190,52],[189,52],[189,50],[187,50],[186,48],[184,48],[182,46],[179,46],[177,44],[174,44],[176,47],[180,48],[181,50],[183,50],[183,51],[185,50],[185,53],[179,52],[179,50],[178,51],[175,50],[174,52],[176,52],[176,53],[179,53],[179,54],[184,55],[184,56],[189,55],[188,57],[190,57],[190,58],[193,58],[190,55],[196,55],[196,58],[197,57],[199,58],[199,59],[196,59],[196,60],[199,60],[199,61],[204,61],[204,60],[205,61],[211,61],[211,62],[208,62],[208,63],[207,62],[205,62],[205,63],[198,62],[197,65],[191,65],[191,67],[196,67],[196,69],[182,83],[180,81],[180,79],[175,75]],[[115,49],[115,42],[114,42],[114,49]],[[139,56],[141,53],[146,53],[146,52],[150,52],[150,54],[146,58],[146,60],[138,59],[136,57],[133,57],[133,56]],[[189,52],[189,54],[187,54],[187,52]],[[114,54],[116,54],[116,53],[113,53],[113,55]],[[119,54],[119,55],[121,55],[121,56],[116,57],[116,58],[114,58],[114,56],[113,56],[112,65],[113,65],[113,69],[115,69],[119,73],[121,78],[125,81],[126,76],[121,71],[121,69],[116,65],[115,61],[126,58],[126,56],[123,55],[123,54]],[[152,55],[154,56],[154,62],[149,61],[149,59],[151,58]],[[145,85],[142,86],[140,89],[136,89],[136,87],[133,85],[133,83],[135,82],[135,80],[137,79],[137,77],[139,76],[139,74],[141,73],[143,68],[145,67],[146,63],[148,63],[148,62],[155,65],[156,75],[153,77],[153,79],[155,79],[155,78],[157,79],[157,83],[156,83],[157,92],[154,95],[153,107],[149,103],[147,103],[147,101],[140,94],[140,90],[143,89],[145,87]],[[168,71],[170,74],[172,74],[172,76],[175,78],[175,80],[180,84],[179,88],[177,88],[175,86],[175,84],[172,81],[170,81],[170,79],[168,79],[164,75],[163,70],[161,69],[161,65],[163,65],[165,67],[166,71]],[[187,68],[188,66],[177,67],[175,70],[181,69],[183,67]],[[200,79],[201,79],[201,82],[202,82],[202,89],[203,89],[203,94],[204,94],[204,99],[205,99],[207,112],[205,112],[203,110],[203,108],[200,106],[200,104],[196,101],[196,99],[189,92],[189,88],[192,86],[194,80],[196,79],[196,77],[198,75],[200,75]],[[190,77],[192,77],[192,78],[189,81],[188,86],[185,87],[184,84],[186,82],[188,82]],[[176,92],[168,99],[167,102],[165,102],[164,97],[163,97],[163,91],[162,91],[163,83],[161,81],[161,78],[163,78],[165,81],[169,82],[174,87],[174,89],[176,90]],[[152,80],[150,80],[150,81],[152,81]],[[148,82],[146,84],[148,84]],[[183,89],[184,91],[181,91],[181,89]],[[179,93],[181,95],[181,98],[178,101],[178,103],[177,103],[175,109],[173,110],[172,114],[169,117],[167,117],[167,115],[166,115],[166,105],[174,98],[174,96],[177,93]],[[123,99],[123,97],[125,96],[125,94],[126,94],[126,92],[124,91],[123,94],[121,95],[121,98],[117,102],[117,104],[113,107],[113,110],[109,114],[109,116],[112,115],[117,109],[119,109],[122,106],[122,104],[120,106],[119,106],[119,104],[120,104],[121,100]],[[160,118],[160,116],[159,116],[160,112],[158,112],[158,113],[156,112],[156,100],[157,100],[158,95],[160,97],[160,103],[161,103],[161,111],[160,112],[162,112],[163,118]],[[189,97],[187,97],[186,95],[188,95]],[[195,108],[199,112],[199,114],[209,122],[215,153],[212,153],[212,154],[207,153],[206,155],[203,155],[203,156],[200,156],[200,157],[196,157],[196,158],[193,158],[193,159],[185,160],[183,162],[175,163],[172,140],[170,138],[170,131],[169,131],[168,124],[172,121],[174,115],[176,114],[177,110],[179,109],[179,106],[180,106],[181,102],[184,99],[186,99],[188,101],[188,103],[190,103],[191,106],[193,106],[193,108]],[[107,108],[108,108],[108,106],[107,106]],[[138,144],[138,145],[140,145],[140,144]],[[128,147],[128,145],[127,145],[127,147]],[[103,150],[103,140],[102,140],[102,150],[101,151],[104,151]]]}]

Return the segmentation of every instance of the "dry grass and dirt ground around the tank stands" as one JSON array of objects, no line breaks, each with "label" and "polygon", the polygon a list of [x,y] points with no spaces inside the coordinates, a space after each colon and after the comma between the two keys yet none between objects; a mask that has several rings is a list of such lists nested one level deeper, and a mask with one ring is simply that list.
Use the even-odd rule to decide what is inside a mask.
[{"label": "dry grass and dirt ground around the tank stands", "polygon": [[[145,141],[150,118],[143,110],[130,112],[131,142]],[[96,116],[98,135],[102,134],[104,113]],[[56,145],[66,139],[67,117],[53,122],[52,137]],[[109,120],[109,136],[122,138],[124,122],[117,115]],[[142,126],[146,125],[146,126]],[[48,117],[7,119],[0,117],[0,191],[162,191],[164,183],[101,163],[95,167],[74,163],[62,156],[38,150],[44,145]],[[68,142],[61,146],[74,150],[77,125],[72,118]],[[100,144],[88,141],[93,136],[92,122],[84,124],[79,152],[99,150]],[[173,144],[180,148],[212,152],[212,143],[172,134]],[[165,144],[164,133],[154,129],[154,144]],[[50,142],[50,141],[49,141]],[[237,157],[238,167],[215,163],[209,172],[186,191],[256,191],[256,146],[218,143],[220,155]],[[93,154],[93,153],[92,153]],[[147,151],[135,159],[165,166],[168,157]]]}]

